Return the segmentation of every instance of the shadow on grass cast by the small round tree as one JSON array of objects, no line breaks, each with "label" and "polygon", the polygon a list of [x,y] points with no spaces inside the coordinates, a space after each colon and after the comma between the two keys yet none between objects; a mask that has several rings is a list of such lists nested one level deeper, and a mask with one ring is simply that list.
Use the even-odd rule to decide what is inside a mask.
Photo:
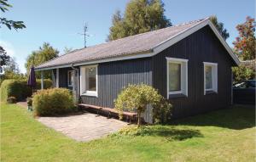
[{"label": "shadow on grass cast by the small round tree", "polygon": [[176,129],[170,126],[143,126],[138,129],[135,135],[166,137],[168,141],[183,141],[192,137],[203,137],[199,130]]}]

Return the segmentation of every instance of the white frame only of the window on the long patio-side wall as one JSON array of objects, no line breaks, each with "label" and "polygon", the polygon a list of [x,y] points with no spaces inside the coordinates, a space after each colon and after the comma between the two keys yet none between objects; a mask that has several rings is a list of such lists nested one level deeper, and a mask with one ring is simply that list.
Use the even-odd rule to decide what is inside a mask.
[{"label": "white frame only of the window on the long patio-side wall", "polygon": [[[96,68],[96,91],[85,91],[85,70],[87,68]],[[98,97],[98,64],[80,66],[80,95]]]}]

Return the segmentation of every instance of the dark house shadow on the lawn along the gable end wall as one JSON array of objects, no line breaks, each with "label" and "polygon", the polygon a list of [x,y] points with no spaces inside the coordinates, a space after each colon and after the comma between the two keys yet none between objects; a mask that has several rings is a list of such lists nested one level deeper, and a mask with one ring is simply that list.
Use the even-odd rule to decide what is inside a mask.
[{"label": "dark house shadow on the lawn along the gable end wall", "polygon": [[255,108],[254,106],[235,105],[230,109],[174,120],[171,125],[218,126],[234,130],[252,128],[255,126]]}]

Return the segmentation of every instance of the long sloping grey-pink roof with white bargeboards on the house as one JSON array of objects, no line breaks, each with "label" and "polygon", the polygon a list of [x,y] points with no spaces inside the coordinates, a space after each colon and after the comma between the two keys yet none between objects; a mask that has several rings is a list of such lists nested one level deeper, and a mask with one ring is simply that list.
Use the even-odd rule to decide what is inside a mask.
[{"label": "long sloping grey-pink roof with white bargeboards on the house", "polygon": [[236,64],[239,60],[232,52],[230,47],[220,36],[212,22],[207,19],[190,21],[180,25],[166,27],[156,31],[148,31],[135,36],[128,36],[118,40],[105,42],[96,46],[86,47],[74,50],[70,53],[51,59],[44,64],[38,65],[36,70],[49,70],[61,67],[70,67],[72,64],[96,64],[100,62],[110,62],[114,60],[136,59],[153,56],[160,53],[166,47],[182,40],[202,27],[210,25],[212,31],[218,36],[220,42],[223,43],[232,59]]}]

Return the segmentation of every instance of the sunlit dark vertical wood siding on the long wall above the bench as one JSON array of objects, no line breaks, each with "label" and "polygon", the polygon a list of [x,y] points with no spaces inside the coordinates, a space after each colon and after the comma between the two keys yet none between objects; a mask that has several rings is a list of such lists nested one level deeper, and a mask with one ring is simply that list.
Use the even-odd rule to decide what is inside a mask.
[{"label": "sunlit dark vertical wood siding on the long wall above the bench", "polygon": [[83,103],[113,108],[113,101],[123,87],[139,83],[152,85],[151,63],[148,58],[98,64],[98,97],[82,96]]}]

